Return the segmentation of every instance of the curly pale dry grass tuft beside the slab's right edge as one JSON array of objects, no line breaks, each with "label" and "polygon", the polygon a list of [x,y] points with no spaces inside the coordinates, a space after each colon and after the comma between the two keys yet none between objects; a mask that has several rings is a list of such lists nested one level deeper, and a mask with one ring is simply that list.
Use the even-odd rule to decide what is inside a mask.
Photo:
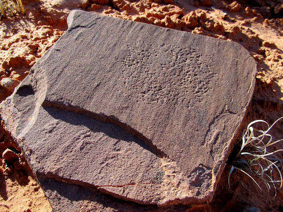
[{"label": "curly pale dry grass tuft beside the slab's right edge", "polygon": [[[278,152],[283,150],[269,151],[270,147],[283,139],[273,141],[272,136],[268,134],[270,129],[283,117],[275,121],[271,126],[266,121],[256,120],[252,121],[247,129],[243,132],[242,146],[236,158],[231,162],[231,169],[228,177],[228,184],[230,187],[230,175],[236,171],[241,171],[249,176],[253,182],[261,189],[256,182],[261,180],[270,190],[271,187],[276,189],[283,187],[282,176],[282,161],[278,157]],[[254,123],[262,122],[267,125],[267,129],[261,130],[252,127]],[[279,186],[280,184],[280,186]]]}]

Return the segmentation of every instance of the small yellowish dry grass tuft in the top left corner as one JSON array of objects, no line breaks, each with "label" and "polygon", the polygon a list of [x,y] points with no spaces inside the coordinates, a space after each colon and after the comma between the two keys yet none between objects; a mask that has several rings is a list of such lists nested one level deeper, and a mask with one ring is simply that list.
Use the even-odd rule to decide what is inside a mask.
[{"label": "small yellowish dry grass tuft in the top left corner", "polygon": [[7,16],[13,16],[17,13],[25,14],[22,0],[0,0],[0,13],[1,16],[6,18]]}]

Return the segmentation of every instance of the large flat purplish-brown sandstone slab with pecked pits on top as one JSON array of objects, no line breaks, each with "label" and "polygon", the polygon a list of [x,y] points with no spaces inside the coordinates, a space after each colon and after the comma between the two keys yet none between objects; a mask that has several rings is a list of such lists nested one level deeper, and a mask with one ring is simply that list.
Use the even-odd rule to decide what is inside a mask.
[{"label": "large flat purplish-brown sandstone slab with pecked pits on top", "polygon": [[74,10],[0,113],[49,198],[67,182],[139,204],[201,204],[255,73],[237,43]]}]

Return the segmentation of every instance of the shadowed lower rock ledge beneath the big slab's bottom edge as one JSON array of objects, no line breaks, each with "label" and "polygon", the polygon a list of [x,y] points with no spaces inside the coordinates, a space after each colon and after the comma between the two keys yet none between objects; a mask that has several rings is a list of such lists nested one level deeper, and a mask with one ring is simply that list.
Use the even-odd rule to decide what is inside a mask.
[{"label": "shadowed lower rock ledge beneath the big slab's bottom edge", "polygon": [[[41,179],[52,208],[56,212],[187,212],[189,206],[157,207],[156,205],[140,205],[113,198],[103,194],[94,187]],[[75,194],[75,195],[74,195]]]}]

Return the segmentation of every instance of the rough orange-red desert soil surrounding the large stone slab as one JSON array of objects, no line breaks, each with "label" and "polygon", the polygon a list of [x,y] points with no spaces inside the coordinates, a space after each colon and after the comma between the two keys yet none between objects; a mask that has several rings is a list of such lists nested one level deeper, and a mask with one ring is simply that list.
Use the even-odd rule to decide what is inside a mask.
[{"label": "rough orange-red desert soil surrounding the large stone slab", "polygon": [[[80,8],[240,43],[258,63],[254,97],[244,127],[253,120],[273,123],[283,116],[282,0],[23,0],[23,4],[25,15],[0,21],[0,101],[13,92],[32,65],[64,33],[69,11]],[[272,131],[275,139],[283,137],[282,124],[277,124]],[[283,144],[278,143],[275,148],[281,149]],[[268,192],[262,185],[260,191],[241,173],[231,176],[229,189],[229,169],[228,164],[212,202],[189,211],[283,211],[282,189],[274,198],[274,189]],[[23,153],[2,121],[0,211],[52,211]]]}]

